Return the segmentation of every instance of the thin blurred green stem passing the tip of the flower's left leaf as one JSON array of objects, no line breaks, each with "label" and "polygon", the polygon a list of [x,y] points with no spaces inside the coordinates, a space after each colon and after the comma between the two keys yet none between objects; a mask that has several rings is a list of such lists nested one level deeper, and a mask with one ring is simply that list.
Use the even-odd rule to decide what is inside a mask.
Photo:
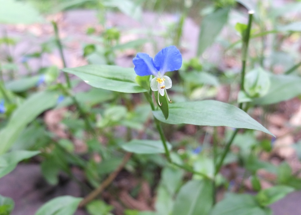
[{"label": "thin blurred green stem passing the tip of the flower's left leaf", "polygon": [[[56,43],[57,43],[57,46],[60,50],[60,56],[61,56],[61,60],[63,62],[63,66],[64,68],[67,67],[66,65],[66,61],[65,61],[65,57],[64,57],[64,53],[63,53],[63,46],[62,46],[62,43],[61,43],[61,40],[60,40],[60,37],[59,37],[59,33],[58,33],[58,28],[57,28],[57,24],[56,22],[52,21],[52,25],[53,25],[53,28],[54,28],[54,32],[55,32],[55,37],[56,37]],[[64,89],[65,90],[65,93],[67,93],[71,99],[73,100],[73,103],[76,105],[80,115],[83,117],[84,119],[84,122],[85,122],[85,126],[86,126],[86,129],[88,131],[91,132],[91,134],[96,137],[96,133],[93,129],[93,127],[91,126],[91,123],[89,121],[89,118],[87,116],[87,114],[85,113],[85,111],[82,109],[82,107],[80,106],[80,104],[78,103],[78,101],[76,100],[75,96],[72,95],[68,90],[71,89],[71,82],[70,82],[70,78],[68,76],[68,73],[65,73],[64,72],[64,75],[65,75],[65,78],[66,78],[66,82],[67,82],[67,88],[68,89]]]}]

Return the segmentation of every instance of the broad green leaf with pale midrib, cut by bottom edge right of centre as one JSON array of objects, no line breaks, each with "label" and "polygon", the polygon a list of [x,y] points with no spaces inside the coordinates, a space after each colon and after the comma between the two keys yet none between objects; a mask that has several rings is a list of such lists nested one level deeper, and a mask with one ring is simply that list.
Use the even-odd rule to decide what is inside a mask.
[{"label": "broad green leaf with pale midrib, cut by bottom edge right of centre", "polygon": [[188,181],[176,197],[172,215],[207,215],[213,205],[212,192],[212,181]]}]

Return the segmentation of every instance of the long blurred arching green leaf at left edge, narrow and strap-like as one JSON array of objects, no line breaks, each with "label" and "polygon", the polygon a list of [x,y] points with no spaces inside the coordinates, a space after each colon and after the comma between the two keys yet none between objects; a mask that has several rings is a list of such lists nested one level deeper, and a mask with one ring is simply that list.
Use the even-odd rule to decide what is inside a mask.
[{"label": "long blurred arching green leaf at left edge, narrow and strap-like", "polygon": [[5,153],[18,139],[24,128],[45,110],[56,104],[56,92],[33,94],[13,112],[7,125],[0,131],[0,154]]}]

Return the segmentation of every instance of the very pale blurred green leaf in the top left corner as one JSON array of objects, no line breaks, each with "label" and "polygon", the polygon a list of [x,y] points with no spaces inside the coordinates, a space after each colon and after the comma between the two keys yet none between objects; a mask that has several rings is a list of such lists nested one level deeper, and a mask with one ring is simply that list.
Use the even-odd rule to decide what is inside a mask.
[{"label": "very pale blurred green leaf in the top left corner", "polygon": [[15,0],[0,0],[0,5],[0,23],[33,24],[44,21],[38,11],[28,3]]}]

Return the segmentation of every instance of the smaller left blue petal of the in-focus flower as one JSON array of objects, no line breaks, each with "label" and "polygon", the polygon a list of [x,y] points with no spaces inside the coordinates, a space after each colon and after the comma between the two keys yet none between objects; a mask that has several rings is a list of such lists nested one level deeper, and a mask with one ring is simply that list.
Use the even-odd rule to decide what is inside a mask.
[{"label": "smaller left blue petal of the in-focus flower", "polygon": [[151,58],[148,54],[138,53],[137,56],[133,59],[133,63],[135,65],[134,70],[139,76],[157,76],[158,74],[158,69],[155,67],[153,58]]}]

